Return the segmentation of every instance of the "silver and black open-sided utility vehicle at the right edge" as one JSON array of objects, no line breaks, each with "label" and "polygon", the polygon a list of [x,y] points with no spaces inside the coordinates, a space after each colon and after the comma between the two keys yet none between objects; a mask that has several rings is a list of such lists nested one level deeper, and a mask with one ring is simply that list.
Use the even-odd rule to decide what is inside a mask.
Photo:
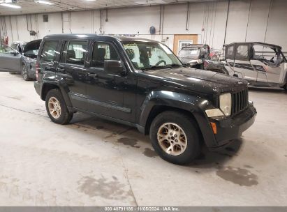
[{"label": "silver and black open-sided utility vehicle at the right edge", "polygon": [[287,60],[278,45],[231,43],[225,45],[221,64],[229,75],[246,79],[251,86],[287,89]]}]

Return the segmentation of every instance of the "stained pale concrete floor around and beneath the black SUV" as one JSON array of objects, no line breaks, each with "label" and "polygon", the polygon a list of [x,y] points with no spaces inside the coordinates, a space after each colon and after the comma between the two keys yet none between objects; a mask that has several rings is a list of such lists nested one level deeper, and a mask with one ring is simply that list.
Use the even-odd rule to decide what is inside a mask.
[{"label": "stained pale concrete floor around and beneath the black SUV", "polygon": [[184,167],[133,128],[84,114],[52,123],[20,75],[0,85],[1,206],[287,205],[284,91],[251,89],[258,116],[242,139]]}]

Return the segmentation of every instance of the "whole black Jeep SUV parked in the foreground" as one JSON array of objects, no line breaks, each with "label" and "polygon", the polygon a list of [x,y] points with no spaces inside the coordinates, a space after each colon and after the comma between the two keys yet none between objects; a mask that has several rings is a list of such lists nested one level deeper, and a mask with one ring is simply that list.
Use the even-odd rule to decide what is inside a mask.
[{"label": "whole black Jeep SUV parked in the foreground", "polygon": [[60,34],[43,38],[37,93],[54,123],[84,112],[149,134],[154,150],[186,164],[209,148],[237,139],[256,109],[247,83],[184,68],[162,43],[140,38]]}]

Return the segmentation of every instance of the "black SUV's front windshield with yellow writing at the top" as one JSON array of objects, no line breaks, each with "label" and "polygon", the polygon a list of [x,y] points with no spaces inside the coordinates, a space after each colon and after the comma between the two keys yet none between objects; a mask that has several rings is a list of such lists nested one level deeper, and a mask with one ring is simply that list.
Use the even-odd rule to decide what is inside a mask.
[{"label": "black SUV's front windshield with yellow writing at the top", "polygon": [[144,70],[161,66],[182,66],[177,56],[161,43],[136,40],[124,41],[122,44],[135,68]]}]

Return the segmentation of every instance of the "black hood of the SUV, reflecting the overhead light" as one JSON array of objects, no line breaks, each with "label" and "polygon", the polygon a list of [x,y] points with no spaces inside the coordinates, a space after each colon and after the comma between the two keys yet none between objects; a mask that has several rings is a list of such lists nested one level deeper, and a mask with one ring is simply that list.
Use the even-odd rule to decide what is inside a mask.
[{"label": "black hood of the SUV, reflecting the overhead light", "polygon": [[195,68],[148,70],[145,74],[154,79],[162,79],[165,84],[170,84],[170,86],[200,93],[239,91],[247,87],[247,82],[244,79]]}]

